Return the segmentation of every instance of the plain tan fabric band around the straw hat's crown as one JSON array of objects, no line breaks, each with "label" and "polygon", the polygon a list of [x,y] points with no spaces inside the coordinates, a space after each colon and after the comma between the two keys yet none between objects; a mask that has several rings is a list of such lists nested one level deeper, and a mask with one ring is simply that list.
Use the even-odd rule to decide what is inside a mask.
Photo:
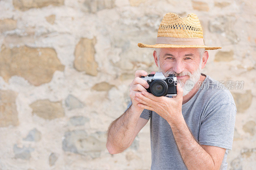
[{"label": "plain tan fabric band around the straw hat's crown", "polygon": [[156,44],[175,44],[175,45],[203,45],[202,38],[175,38],[175,37],[157,37]]}]

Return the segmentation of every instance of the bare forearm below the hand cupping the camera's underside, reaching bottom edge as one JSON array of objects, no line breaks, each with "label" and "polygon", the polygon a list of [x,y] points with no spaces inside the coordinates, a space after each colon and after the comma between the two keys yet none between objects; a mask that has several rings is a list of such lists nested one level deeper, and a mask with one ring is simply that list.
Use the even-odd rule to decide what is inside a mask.
[{"label": "bare forearm below the hand cupping the camera's underside, reaching bottom edge", "polygon": [[188,169],[214,169],[212,157],[197,143],[183,118],[169,123],[181,157]]}]

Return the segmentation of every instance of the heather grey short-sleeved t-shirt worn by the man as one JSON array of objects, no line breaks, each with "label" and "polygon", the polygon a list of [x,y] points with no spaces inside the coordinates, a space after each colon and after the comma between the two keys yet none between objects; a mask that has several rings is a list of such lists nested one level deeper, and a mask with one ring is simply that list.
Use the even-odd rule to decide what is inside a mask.
[{"label": "heather grey short-sleeved t-shirt worn by the man", "polygon": [[[206,76],[196,94],[182,104],[182,115],[200,145],[226,148],[220,169],[227,169],[228,150],[232,149],[236,105],[228,89]],[[171,97],[171,96],[169,96]],[[127,106],[130,107],[132,102]],[[188,169],[178,150],[171,126],[156,112],[144,109],[140,115],[150,119],[151,170]]]}]

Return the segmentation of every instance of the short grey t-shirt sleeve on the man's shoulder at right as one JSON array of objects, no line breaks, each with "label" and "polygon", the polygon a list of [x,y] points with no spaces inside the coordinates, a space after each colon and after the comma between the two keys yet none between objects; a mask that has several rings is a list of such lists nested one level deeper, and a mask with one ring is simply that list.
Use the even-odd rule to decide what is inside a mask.
[{"label": "short grey t-shirt sleeve on the man's shoulder at right", "polygon": [[204,115],[199,129],[199,143],[231,150],[235,119],[235,104],[227,103],[216,106]]}]

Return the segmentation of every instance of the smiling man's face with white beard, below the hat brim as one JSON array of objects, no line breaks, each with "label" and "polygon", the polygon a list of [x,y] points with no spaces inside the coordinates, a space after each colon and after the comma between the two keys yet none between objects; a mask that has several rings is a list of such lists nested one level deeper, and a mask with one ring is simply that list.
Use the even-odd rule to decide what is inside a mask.
[{"label": "smiling man's face with white beard, below the hat brim", "polygon": [[183,96],[187,95],[200,79],[202,61],[197,48],[162,48],[157,63],[159,72],[163,72],[165,77],[169,74],[177,76]]}]

